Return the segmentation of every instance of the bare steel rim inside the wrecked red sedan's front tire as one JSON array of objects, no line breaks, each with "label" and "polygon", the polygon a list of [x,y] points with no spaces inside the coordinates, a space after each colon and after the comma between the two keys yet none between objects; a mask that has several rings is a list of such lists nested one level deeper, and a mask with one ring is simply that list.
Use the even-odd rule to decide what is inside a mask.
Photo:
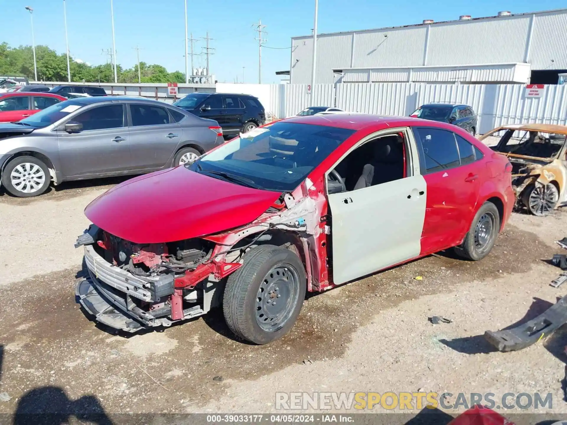
[{"label": "bare steel rim inside the wrecked red sedan's front tire", "polygon": [[265,332],[281,329],[293,315],[299,298],[299,275],[278,264],[265,275],[256,295],[256,322]]}]

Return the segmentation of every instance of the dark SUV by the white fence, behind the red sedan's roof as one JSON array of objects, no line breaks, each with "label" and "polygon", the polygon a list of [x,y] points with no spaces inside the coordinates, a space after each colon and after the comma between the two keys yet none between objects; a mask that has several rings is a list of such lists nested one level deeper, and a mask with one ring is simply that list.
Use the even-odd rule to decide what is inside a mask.
[{"label": "dark SUV by the white fence, behind the red sedan's roof", "polygon": [[429,103],[421,105],[410,116],[423,120],[448,122],[472,135],[476,135],[478,129],[475,111],[468,105]]}]

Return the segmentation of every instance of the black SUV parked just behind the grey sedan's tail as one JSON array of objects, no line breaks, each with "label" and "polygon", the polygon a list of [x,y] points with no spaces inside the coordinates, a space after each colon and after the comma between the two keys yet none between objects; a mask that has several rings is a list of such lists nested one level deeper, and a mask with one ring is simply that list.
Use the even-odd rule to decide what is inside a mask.
[{"label": "black SUV parked just behind the grey sedan's tail", "polygon": [[217,121],[223,135],[246,133],[266,121],[264,107],[257,97],[250,95],[194,92],[174,105],[198,117]]}]

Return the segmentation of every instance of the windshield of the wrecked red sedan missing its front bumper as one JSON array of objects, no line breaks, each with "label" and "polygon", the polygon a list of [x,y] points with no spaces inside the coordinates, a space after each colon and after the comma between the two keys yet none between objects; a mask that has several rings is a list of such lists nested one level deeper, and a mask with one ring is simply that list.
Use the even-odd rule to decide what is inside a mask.
[{"label": "windshield of the wrecked red sedan missing its front bumper", "polygon": [[192,171],[258,189],[289,192],[354,130],[275,122],[227,142]]}]

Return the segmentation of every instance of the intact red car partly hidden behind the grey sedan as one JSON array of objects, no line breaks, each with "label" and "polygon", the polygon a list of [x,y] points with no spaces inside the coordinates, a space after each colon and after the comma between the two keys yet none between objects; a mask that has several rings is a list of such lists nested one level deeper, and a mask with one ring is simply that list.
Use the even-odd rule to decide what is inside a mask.
[{"label": "intact red car partly hidden behind the grey sedan", "polygon": [[67,100],[60,95],[44,92],[0,93],[0,122],[23,120],[41,109]]}]

